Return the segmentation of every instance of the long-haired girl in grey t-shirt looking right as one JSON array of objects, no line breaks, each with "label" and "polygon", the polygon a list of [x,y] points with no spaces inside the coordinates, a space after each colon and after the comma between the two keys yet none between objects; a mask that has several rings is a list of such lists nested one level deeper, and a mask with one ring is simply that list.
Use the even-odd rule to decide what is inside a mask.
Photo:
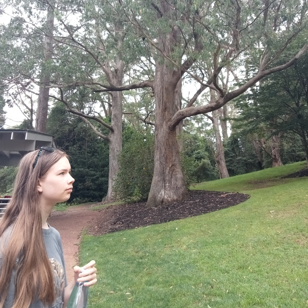
[{"label": "long-haired girl in grey t-shirt looking right", "polygon": [[42,147],[23,156],[12,200],[0,219],[0,308],[66,307],[76,281],[96,283],[95,261],[74,267],[67,285],[59,232],[47,223],[69,199],[74,179],[67,155]]}]

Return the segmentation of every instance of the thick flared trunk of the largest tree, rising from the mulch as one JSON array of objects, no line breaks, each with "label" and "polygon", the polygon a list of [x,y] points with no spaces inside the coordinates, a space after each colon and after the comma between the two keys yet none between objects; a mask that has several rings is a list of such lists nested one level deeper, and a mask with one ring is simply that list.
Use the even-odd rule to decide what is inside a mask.
[{"label": "thick flared trunk of the largest tree, rising from the mulch", "polygon": [[177,111],[174,93],[179,75],[180,72],[168,67],[167,63],[156,62],[154,172],[147,208],[189,197],[180,165],[176,130],[168,128],[168,121]]}]

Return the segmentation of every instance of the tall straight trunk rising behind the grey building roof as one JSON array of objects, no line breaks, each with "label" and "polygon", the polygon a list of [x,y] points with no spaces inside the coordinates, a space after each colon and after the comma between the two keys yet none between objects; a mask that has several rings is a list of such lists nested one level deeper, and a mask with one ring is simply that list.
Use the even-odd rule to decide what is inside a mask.
[{"label": "tall straight trunk rising behind the grey building roof", "polygon": [[36,111],[36,122],[35,130],[37,132],[46,132],[47,125],[47,114],[48,114],[48,100],[49,100],[49,88],[46,86],[50,85],[50,60],[52,56],[52,44],[53,44],[53,34],[54,34],[54,8],[55,0],[49,2],[48,12],[47,12],[47,22],[46,22],[46,36],[44,39],[44,60],[41,72],[41,83],[42,86],[39,88],[39,99],[38,107]]}]

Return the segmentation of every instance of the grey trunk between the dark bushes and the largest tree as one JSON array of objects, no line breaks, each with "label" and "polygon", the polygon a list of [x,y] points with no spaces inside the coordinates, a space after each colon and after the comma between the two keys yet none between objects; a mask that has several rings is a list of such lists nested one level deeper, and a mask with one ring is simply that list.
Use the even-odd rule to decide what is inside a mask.
[{"label": "grey trunk between the dark bushes and the largest tree", "polygon": [[[116,86],[123,85],[124,62],[116,57],[115,71],[110,74],[113,84]],[[115,175],[119,170],[117,156],[122,151],[122,92],[111,92],[112,114],[111,126],[113,131],[109,133],[109,178],[108,192],[106,201],[113,201],[113,184]]]}]

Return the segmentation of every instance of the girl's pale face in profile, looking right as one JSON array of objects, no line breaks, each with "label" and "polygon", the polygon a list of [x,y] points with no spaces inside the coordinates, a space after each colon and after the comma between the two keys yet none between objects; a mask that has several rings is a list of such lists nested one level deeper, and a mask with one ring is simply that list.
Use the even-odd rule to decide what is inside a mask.
[{"label": "girl's pale face in profile, looking right", "polygon": [[71,165],[66,157],[62,157],[39,179],[38,192],[41,202],[55,205],[67,201],[71,197],[74,179],[70,175]]}]

